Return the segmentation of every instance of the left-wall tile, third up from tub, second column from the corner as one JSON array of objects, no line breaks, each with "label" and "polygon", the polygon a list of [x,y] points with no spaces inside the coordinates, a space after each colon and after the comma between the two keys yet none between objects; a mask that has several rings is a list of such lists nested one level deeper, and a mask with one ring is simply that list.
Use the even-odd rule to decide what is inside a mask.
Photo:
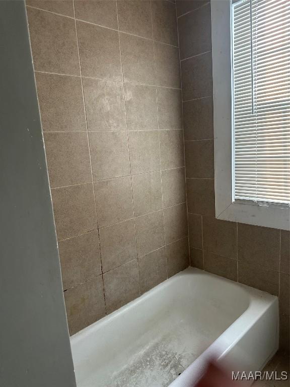
[{"label": "left-wall tile, third up from tub, second column from the corner", "polygon": [[132,176],[132,190],[135,216],[162,209],[160,172]]}]

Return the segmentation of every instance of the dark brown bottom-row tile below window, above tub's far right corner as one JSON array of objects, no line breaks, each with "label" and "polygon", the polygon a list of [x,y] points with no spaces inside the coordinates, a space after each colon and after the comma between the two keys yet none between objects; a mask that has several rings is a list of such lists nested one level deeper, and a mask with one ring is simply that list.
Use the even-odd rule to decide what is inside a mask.
[{"label": "dark brown bottom-row tile below window, above tub's far right corner", "polygon": [[238,262],[239,282],[270,294],[279,293],[279,273],[263,266],[243,261]]}]

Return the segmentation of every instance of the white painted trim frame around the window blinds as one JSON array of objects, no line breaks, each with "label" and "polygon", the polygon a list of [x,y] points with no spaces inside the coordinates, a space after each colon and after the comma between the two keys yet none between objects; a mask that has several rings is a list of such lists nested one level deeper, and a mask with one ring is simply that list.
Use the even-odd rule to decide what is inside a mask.
[{"label": "white painted trim frame around the window blinds", "polygon": [[215,217],[290,230],[290,208],[233,199],[231,0],[211,0]]}]

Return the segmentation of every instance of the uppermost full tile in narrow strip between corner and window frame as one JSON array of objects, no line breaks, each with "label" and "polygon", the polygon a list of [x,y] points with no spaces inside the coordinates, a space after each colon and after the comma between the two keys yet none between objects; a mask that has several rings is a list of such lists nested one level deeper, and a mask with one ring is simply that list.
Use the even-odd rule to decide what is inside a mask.
[{"label": "uppermost full tile in narrow strip between corner and window frame", "polygon": [[211,50],[210,4],[178,19],[180,58]]}]

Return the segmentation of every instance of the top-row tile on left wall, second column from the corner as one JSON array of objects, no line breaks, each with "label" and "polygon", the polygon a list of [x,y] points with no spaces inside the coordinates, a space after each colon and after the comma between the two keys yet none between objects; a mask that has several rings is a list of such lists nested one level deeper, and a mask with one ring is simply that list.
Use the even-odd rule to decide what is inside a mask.
[{"label": "top-row tile on left wall, second column from the corner", "polygon": [[151,5],[146,0],[117,1],[119,30],[152,39]]}]

